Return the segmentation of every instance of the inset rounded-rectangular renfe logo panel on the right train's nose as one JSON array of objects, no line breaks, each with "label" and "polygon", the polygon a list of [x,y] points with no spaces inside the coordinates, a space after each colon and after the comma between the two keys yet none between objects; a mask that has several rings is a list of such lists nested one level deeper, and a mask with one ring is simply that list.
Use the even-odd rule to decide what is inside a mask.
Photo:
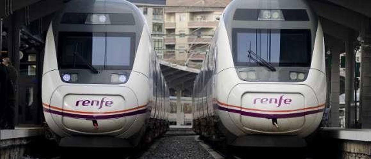
[{"label": "inset rounded-rectangular renfe logo panel on the right train's nose", "polygon": [[245,127],[262,132],[298,130],[305,122],[304,108],[302,94],[246,93],[242,96],[241,121]]}]

